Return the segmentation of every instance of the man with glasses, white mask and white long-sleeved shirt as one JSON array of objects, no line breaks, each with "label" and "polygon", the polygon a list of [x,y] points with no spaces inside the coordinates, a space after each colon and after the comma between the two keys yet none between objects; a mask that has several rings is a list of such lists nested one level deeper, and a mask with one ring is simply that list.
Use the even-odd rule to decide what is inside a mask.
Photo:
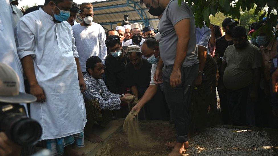
[{"label": "man with glasses, white mask and white long-sleeved shirt", "polygon": [[80,16],[83,21],[72,26],[83,74],[86,73],[86,61],[89,57],[98,56],[105,64],[105,57],[107,56],[105,31],[100,24],[93,22],[93,15],[93,5],[82,3],[80,5]]}]

